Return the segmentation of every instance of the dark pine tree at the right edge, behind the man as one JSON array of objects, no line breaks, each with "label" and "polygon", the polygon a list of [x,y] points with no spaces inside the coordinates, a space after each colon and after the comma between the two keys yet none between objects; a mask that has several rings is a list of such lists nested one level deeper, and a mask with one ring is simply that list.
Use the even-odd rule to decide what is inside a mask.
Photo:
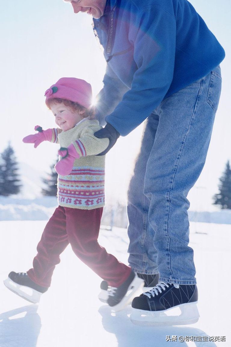
[{"label": "dark pine tree at the right edge, behind the man", "polygon": [[231,169],[229,160],[226,163],[225,171],[219,180],[220,193],[214,195],[213,204],[221,205],[222,209],[231,209]]}]

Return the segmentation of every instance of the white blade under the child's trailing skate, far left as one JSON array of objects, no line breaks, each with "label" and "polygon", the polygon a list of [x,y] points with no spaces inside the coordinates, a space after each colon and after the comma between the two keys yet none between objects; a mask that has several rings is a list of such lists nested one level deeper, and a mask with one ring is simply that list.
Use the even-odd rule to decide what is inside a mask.
[{"label": "white blade under the child's trailing skate, far left", "polygon": [[9,290],[11,290],[21,298],[29,301],[32,304],[39,303],[40,297],[42,295],[42,293],[40,293],[39,291],[33,288],[19,285],[18,283],[12,281],[9,277],[5,281],[3,281],[3,283]]}]

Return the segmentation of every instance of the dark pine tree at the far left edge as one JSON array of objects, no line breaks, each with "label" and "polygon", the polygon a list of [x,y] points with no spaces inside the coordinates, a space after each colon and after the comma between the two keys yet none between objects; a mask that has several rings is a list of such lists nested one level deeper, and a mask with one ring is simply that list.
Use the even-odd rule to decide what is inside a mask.
[{"label": "dark pine tree at the far left edge", "polygon": [[14,149],[10,143],[1,153],[0,161],[0,195],[9,196],[18,194],[21,185],[18,178],[18,163],[15,157]]}]

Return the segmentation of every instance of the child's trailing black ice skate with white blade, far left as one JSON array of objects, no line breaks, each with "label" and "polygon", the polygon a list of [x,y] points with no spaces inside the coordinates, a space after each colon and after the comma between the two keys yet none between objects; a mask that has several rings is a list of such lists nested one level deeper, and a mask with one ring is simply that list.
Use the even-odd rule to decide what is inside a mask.
[{"label": "child's trailing black ice skate with white blade, far left", "polygon": [[33,304],[37,304],[41,295],[48,289],[46,287],[37,285],[27,276],[27,273],[25,272],[11,271],[8,278],[3,282],[5,286],[13,293],[21,296]]}]

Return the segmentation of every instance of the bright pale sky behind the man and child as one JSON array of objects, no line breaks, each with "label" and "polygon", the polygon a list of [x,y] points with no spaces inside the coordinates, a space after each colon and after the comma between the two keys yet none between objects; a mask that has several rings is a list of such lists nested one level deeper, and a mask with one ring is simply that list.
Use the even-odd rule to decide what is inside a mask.
[{"label": "bright pale sky behind the man and child", "polygon": [[[205,188],[194,189],[197,195],[202,191],[202,195],[206,195],[206,191],[211,196],[216,193],[225,162],[231,160],[231,1],[190,2],[226,51],[221,64],[223,90],[220,106],[205,168],[197,183],[197,187]],[[43,143],[35,150],[32,145],[23,144],[21,139],[33,133],[37,124],[44,129],[55,126],[43,95],[60,77],[86,79],[92,84],[95,95],[100,90],[105,61],[92,31],[91,18],[86,14],[73,14],[71,5],[62,0],[4,1],[1,4],[0,39],[0,151],[10,140],[19,161],[47,171],[58,147]],[[123,201],[139,149],[141,131],[142,126],[119,139],[107,155],[108,194]],[[195,200],[194,196],[192,198]],[[210,197],[207,203],[209,201]]]}]

